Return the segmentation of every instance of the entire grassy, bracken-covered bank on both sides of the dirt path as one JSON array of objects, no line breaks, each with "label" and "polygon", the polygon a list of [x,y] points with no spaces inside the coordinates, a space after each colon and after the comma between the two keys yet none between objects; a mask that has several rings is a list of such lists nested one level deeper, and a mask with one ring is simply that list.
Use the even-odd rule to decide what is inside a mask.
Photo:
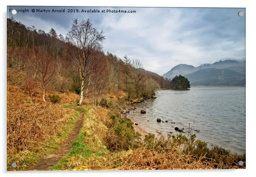
[{"label": "entire grassy, bracken-covered bank on both sides of the dirt path", "polygon": [[[17,88],[10,87],[9,89]],[[7,124],[9,127],[7,134],[8,170],[26,170],[28,166],[37,163],[40,158],[56,151],[73,129],[79,112],[85,112],[82,129],[68,154],[51,170],[245,168],[245,164],[238,165],[239,160],[245,162],[245,155],[232,154],[217,146],[208,148],[207,143],[197,140],[194,134],[165,137],[158,132],[157,136],[140,135],[138,131],[135,131],[131,120],[120,113],[126,103],[133,102],[126,101],[123,93],[104,96],[96,110],[91,106],[90,98],[82,106],[77,106],[77,98],[72,94],[58,93],[63,98],[62,103],[49,102],[44,105],[35,100],[22,101],[29,98],[22,95],[23,93],[18,89],[17,93],[13,98],[20,99],[20,104],[15,104],[15,107],[12,105],[14,107],[12,111],[16,109],[16,114],[9,113]],[[42,109],[43,112],[40,114],[38,110],[37,112],[35,110],[24,111],[31,107]],[[26,119],[22,119],[22,116],[25,116],[23,114],[27,114]],[[18,118],[20,118],[19,127],[23,127],[26,131],[35,126],[32,118],[41,120],[37,122],[37,131],[30,130],[30,139],[23,137],[26,133],[25,135],[15,134],[23,138],[25,145],[14,141],[16,140],[13,137],[14,132],[10,131],[17,126],[15,120]],[[34,124],[31,123],[33,121]],[[11,168],[12,162],[17,163],[16,169]]]}]

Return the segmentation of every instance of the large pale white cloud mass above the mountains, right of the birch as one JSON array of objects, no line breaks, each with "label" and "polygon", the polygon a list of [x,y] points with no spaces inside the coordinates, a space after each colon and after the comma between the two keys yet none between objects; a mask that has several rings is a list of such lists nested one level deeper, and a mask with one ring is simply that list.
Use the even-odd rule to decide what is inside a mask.
[{"label": "large pale white cloud mass above the mountains, right of the birch", "polygon": [[[146,70],[161,75],[181,63],[197,66],[219,59],[243,57],[241,43],[205,33],[216,30],[215,24],[185,29],[193,20],[202,21],[197,11],[184,17],[176,8],[163,14],[161,10],[145,8],[136,15],[105,17],[101,23],[107,26],[105,49],[119,57],[138,58]],[[225,33],[234,34],[233,31],[222,31]]]}]

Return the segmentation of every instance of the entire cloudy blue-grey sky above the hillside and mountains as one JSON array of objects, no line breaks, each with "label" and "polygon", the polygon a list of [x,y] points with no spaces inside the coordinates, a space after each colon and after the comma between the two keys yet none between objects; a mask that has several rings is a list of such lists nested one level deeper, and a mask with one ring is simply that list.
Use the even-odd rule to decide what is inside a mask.
[{"label": "entire cloudy blue-grey sky above the hillside and mountains", "polygon": [[[28,9],[13,15],[10,9]],[[65,9],[65,13],[31,12]],[[78,11],[135,10],[136,13],[68,13]],[[244,12],[239,17],[238,12]],[[103,50],[119,58],[142,61],[144,68],[163,75],[179,64],[199,66],[224,59],[245,59],[245,8],[108,8],[9,6],[7,17],[26,26],[67,34],[72,18],[91,18],[105,32]]]}]

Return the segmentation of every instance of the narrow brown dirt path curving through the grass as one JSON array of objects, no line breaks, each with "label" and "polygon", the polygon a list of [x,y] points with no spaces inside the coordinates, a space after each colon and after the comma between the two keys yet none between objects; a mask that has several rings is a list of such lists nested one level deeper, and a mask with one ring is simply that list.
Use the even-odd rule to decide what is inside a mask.
[{"label": "narrow brown dirt path curving through the grass", "polygon": [[76,125],[71,133],[68,135],[68,138],[61,143],[60,149],[54,152],[54,154],[47,155],[43,157],[35,166],[28,168],[28,171],[43,171],[49,170],[53,167],[59,160],[61,160],[71,149],[71,145],[76,140],[80,129],[82,128],[84,120],[84,113],[81,113],[77,118]]}]

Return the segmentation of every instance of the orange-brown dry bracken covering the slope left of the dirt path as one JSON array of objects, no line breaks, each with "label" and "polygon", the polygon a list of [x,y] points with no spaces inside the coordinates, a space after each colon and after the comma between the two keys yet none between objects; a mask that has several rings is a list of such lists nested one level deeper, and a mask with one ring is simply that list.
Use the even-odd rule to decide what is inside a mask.
[{"label": "orange-brown dry bracken covering the slope left of the dirt path", "polygon": [[21,166],[25,158],[40,152],[52,136],[71,123],[68,115],[73,113],[61,104],[43,103],[40,96],[31,98],[20,87],[8,85],[7,164],[15,160]]}]

